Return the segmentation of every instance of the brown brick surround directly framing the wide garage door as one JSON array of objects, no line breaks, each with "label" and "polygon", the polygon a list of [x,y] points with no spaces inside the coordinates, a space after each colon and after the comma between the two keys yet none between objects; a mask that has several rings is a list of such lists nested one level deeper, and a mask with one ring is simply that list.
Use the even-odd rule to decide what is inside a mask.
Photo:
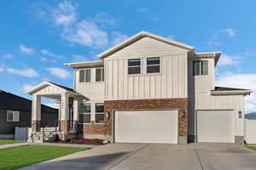
[{"label": "brown brick surround directly framing the wide garage door", "polygon": [[[105,101],[105,112],[177,109],[178,136],[188,135],[188,99],[131,99]],[[111,117],[111,116],[110,116]],[[112,135],[112,120],[105,120],[105,134]]]}]

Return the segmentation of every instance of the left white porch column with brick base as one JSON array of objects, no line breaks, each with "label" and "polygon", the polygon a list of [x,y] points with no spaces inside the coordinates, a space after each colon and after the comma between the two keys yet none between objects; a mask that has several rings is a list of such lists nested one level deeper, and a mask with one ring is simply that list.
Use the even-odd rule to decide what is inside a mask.
[{"label": "left white porch column with brick base", "polygon": [[32,132],[40,131],[41,122],[41,96],[32,95]]}]

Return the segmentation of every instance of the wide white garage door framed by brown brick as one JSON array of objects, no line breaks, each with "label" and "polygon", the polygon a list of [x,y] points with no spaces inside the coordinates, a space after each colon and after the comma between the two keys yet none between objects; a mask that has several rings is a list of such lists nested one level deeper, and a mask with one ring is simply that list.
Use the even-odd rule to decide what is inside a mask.
[{"label": "wide white garage door framed by brown brick", "polygon": [[115,111],[114,115],[115,142],[177,144],[177,111]]}]

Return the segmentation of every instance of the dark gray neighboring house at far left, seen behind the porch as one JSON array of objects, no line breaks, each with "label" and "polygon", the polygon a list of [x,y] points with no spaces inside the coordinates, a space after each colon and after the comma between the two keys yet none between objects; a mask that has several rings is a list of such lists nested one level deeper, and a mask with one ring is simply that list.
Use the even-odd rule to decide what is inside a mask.
[{"label": "dark gray neighboring house at far left, seen behind the porch", "polygon": [[[15,127],[30,127],[32,101],[0,90],[0,139],[13,139]],[[56,126],[58,110],[42,105],[41,126]]]}]

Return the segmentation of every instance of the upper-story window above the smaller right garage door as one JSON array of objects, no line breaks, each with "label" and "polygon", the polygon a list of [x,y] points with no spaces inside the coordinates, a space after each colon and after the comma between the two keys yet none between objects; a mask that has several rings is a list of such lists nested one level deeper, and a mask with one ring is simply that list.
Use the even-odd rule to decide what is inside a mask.
[{"label": "upper-story window above the smaller right garage door", "polygon": [[208,61],[193,61],[193,75],[208,75]]}]

